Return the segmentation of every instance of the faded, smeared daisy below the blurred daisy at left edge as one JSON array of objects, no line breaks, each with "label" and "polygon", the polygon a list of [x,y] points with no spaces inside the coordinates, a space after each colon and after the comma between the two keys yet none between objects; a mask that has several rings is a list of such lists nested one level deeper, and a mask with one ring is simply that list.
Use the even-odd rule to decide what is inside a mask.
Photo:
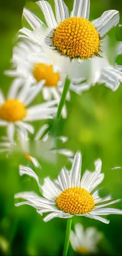
[{"label": "faded, smeared daisy below the blurred daisy at left edge", "polygon": [[[48,133],[41,139],[48,127],[48,124],[43,125],[38,130],[33,140],[29,139],[28,132],[23,133],[20,129],[17,129],[17,140],[14,143],[9,141],[7,137],[2,136],[0,142],[0,153],[6,152],[8,158],[14,157],[16,153],[21,154],[28,161],[32,162],[34,167],[40,168],[41,166],[37,158],[41,157],[47,161],[55,162],[57,157],[56,153],[68,157],[72,162],[74,153],[71,150],[65,148],[56,149],[56,139],[51,138]],[[61,144],[68,140],[63,136],[58,136],[57,139]]]}]

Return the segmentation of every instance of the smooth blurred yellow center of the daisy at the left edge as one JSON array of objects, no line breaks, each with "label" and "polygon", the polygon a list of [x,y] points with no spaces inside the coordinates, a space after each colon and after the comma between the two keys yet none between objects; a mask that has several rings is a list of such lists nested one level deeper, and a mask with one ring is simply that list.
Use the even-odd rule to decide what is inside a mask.
[{"label": "smooth blurred yellow center of the daisy at the left edge", "polygon": [[9,122],[22,120],[26,115],[26,108],[17,99],[7,99],[0,107],[0,117]]}]

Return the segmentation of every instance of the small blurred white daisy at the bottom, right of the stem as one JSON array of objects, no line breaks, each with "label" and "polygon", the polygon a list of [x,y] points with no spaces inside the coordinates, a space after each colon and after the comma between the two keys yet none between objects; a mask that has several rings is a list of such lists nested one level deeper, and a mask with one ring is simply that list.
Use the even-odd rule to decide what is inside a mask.
[{"label": "small blurred white daisy at the bottom, right of the stem", "polygon": [[84,230],[81,223],[76,223],[74,232],[71,230],[70,243],[74,251],[80,254],[97,252],[97,243],[102,239],[103,234],[96,228],[89,227]]}]

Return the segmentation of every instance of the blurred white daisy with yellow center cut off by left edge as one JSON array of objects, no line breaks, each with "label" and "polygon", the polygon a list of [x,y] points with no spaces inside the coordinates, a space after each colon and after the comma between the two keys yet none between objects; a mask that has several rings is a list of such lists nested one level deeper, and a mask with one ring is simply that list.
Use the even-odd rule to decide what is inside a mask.
[{"label": "blurred white daisy with yellow center cut off by left edge", "polygon": [[11,142],[14,141],[16,126],[23,132],[28,130],[34,133],[33,126],[28,124],[27,121],[52,118],[52,115],[56,113],[57,107],[54,106],[56,101],[49,101],[27,108],[40,92],[44,82],[44,80],[41,81],[35,91],[30,93],[30,81],[27,80],[21,88],[21,79],[16,78],[9,89],[6,100],[0,90],[0,126],[7,126],[7,136]]}]

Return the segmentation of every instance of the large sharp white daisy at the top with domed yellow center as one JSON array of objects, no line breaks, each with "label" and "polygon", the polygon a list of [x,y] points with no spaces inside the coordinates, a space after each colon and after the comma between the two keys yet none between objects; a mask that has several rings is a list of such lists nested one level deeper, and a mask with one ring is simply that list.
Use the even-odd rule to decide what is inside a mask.
[{"label": "large sharp white daisy at the top with domed yellow center", "polygon": [[[99,78],[103,61],[104,67],[110,66],[106,63],[106,60],[97,57],[104,56],[104,39],[101,39],[101,37],[117,25],[119,12],[116,10],[105,11],[100,18],[90,22],[90,0],[74,0],[70,16],[64,1],[54,0],[55,19],[51,5],[47,1],[36,3],[45,16],[48,28],[38,17],[24,8],[23,15],[33,31],[24,27],[20,30],[23,35],[19,35],[19,37],[28,38],[32,42],[40,44],[50,58],[57,63],[58,67],[68,74],[72,81],[72,90],[81,92],[82,89],[89,88],[94,82],[101,83]],[[43,38],[45,38],[45,44]],[[94,69],[92,59],[96,63],[97,70]],[[105,63],[107,66],[105,66]],[[109,73],[107,75],[117,77],[119,72],[116,67],[112,67],[107,71]],[[94,76],[97,77],[97,81],[94,81]],[[104,77],[106,78],[106,75]],[[108,76],[106,79],[108,80]],[[114,87],[114,90],[116,90],[115,79],[112,82],[114,85],[110,88],[113,90]]]}]

